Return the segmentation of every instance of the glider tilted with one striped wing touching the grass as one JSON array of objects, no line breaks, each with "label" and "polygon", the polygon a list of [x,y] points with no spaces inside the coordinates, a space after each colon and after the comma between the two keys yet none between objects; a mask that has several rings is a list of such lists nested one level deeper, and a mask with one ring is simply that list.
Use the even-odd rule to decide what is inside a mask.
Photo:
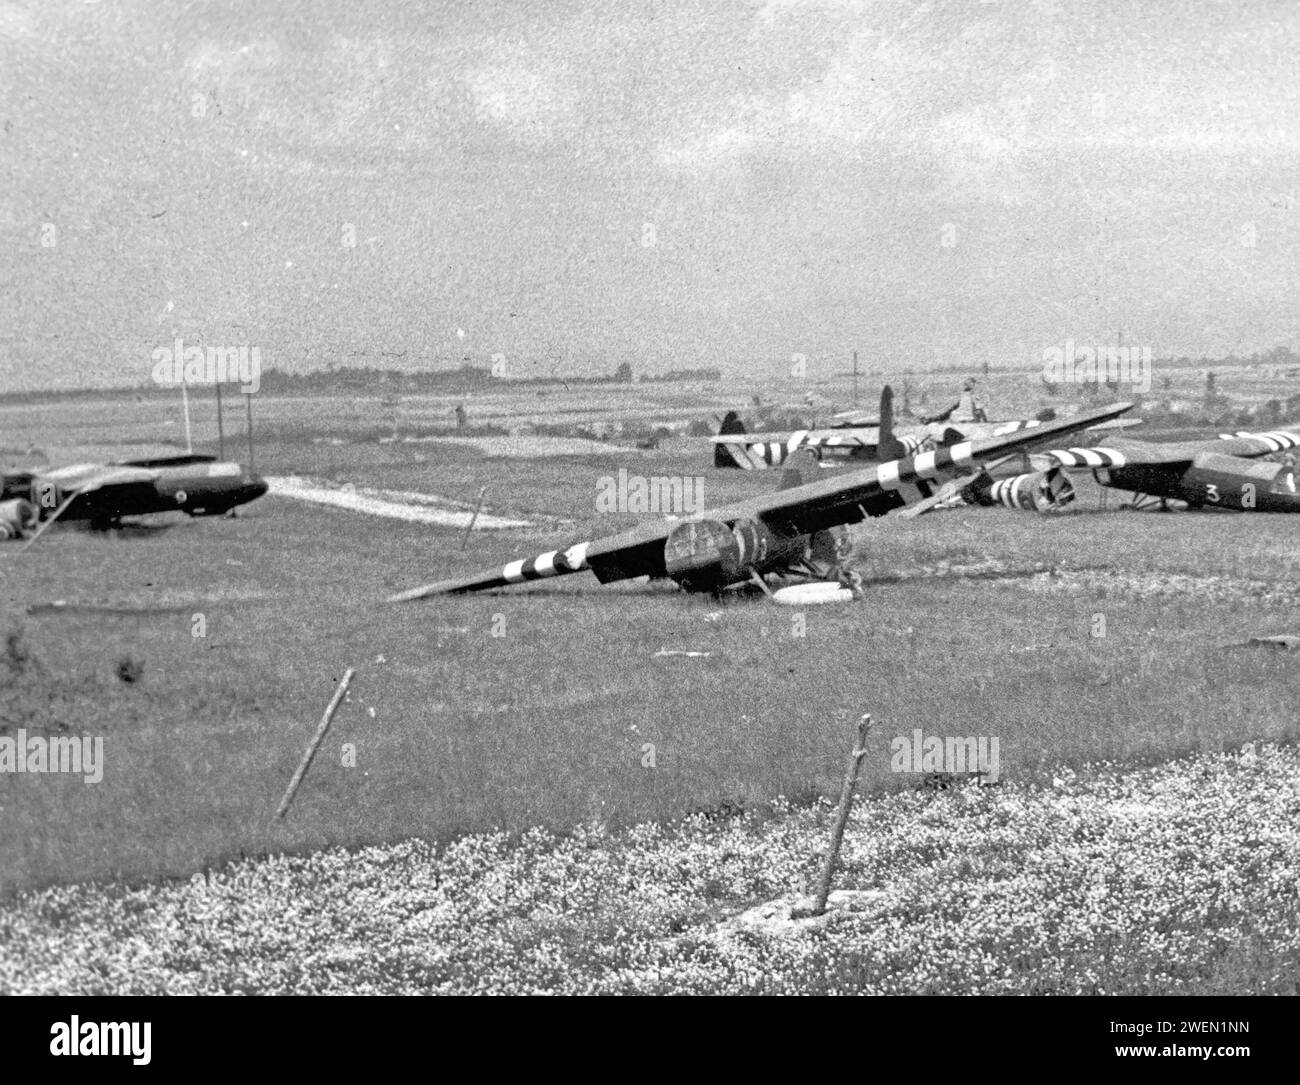
[{"label": "glider tilted with one striped wing touching the grass", "polygon": [[[690,591],[720,591],[768,576],[814,576],[842,569],[844,525],[924,500],[949,479],[971,477],[989,460],[1011,456],[1065,434],[1114,418],[1132,407],[1119,403],[1063,421],[983,440],[890,457],[829,477],[802,468],[783,473],[775,492],[749,498],[690,520],[658,520],[601,539],[576,542],[532,559],[511,561],[456,580],[403,591],[389,602],[467,591],[592,570],[601,583],[640,576],[670,577]],[[893,438],[885,428],[883,438]],[[800,455],[811,466],[811,457]],[[811,481],[810,481],[811,479]]]}]

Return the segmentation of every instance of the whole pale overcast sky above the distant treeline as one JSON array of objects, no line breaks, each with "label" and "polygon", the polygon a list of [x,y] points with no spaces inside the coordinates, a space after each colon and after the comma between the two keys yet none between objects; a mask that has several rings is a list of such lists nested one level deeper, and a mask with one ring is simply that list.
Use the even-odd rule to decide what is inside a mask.
[{"label": "whole pale overcast sky above the distant treeline", "polygon": [[[0,4],[0,387],[1300,346],[1291,0]],[[355,244],[347,242],[355,235]]]}]

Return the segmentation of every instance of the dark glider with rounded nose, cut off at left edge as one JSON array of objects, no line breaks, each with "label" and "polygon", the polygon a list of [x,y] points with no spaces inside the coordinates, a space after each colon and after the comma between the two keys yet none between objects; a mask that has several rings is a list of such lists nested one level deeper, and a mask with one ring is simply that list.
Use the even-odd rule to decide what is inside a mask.
[{"label": "dark glider with rounded nose, cut off at left edge", "polygon": [[35,529],[35,542],[58,520],[109,528],[125,516],[157,512],[220,516],[265,492],[265,479],[251,470],[202,455],[18,472],[0,477],[0,538]]}]

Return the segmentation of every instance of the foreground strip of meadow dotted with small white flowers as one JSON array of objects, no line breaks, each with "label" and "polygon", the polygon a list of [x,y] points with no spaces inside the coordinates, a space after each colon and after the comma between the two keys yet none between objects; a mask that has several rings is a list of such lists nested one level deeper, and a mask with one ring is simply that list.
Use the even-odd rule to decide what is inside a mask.
[{"label": "foreground strip of meadow dotted with small white flowers", "polygon": [[[248,859],[0,904],[0,991],[1297,994],[1297,748]],[[758,902],[755,904],[755,902]]]}]

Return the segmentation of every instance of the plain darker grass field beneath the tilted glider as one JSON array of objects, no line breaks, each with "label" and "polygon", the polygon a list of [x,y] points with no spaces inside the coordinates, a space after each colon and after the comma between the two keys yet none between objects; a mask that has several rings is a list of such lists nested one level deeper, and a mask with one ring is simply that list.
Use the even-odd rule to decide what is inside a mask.
[{"label": "plain darker grass field beneath the tilted glider", "polygon": [[[87,443],[109,435],[81,430]],[[1054,517],[862,525],[858,565],[874,583],[835,608],[589,574],[380,602],[623,526],[634,517],[594,512],[599,477],[701,473],[701,461],[681,442],[517,460],[465,443],[268,435],[266,474],[462,502],[486,485],[489,511],[573,524],[474,533],[462,548],[459,530],[269,496],[237,520],[56,530],[26,554],[0,551],[0,728],[104,738],[99,784],[0,776],[0,895],[143,884],[246,855],[803,804],[836,793],[867,711],[875,795],[924,782],[890,772],[890,741],[914,729],[996,737],[1009,786],[1300,733],[1296,656],[1240,647],[1300,632],[1295,522],[1119,512],[1114,495],[1098,511],[1087,487]],[[777,482],[703,473],[710,504]],[[706,655],[660,654],[675,651]],[[352,690],[277,823],[347,667]]]}]

